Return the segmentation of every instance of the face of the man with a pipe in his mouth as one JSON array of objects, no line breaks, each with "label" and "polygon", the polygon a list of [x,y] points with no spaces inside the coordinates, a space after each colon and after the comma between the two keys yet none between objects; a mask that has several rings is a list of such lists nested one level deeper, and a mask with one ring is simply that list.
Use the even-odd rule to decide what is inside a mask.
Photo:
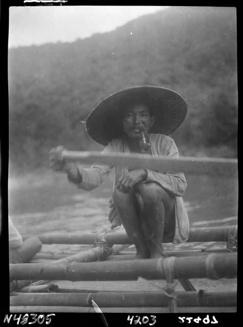
[{"label": "face of the man with a pipe in his mouth", "polygon": [[154,123],[154,117],[144,105],[129,107],[123,116],[123,129],[130,138],[139,138],[140,130],[147,134]]}]

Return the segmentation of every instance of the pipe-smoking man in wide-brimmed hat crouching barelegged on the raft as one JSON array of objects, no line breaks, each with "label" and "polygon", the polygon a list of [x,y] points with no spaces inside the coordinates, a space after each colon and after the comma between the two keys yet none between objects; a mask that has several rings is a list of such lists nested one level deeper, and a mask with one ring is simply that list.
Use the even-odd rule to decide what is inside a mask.
[{"label": "pipe-smoking man in wide-brimmed hat crouching barelegged on the raft", "polygon": [[[144,153],[178,157],[168,134],[185,119],[187,106],[176,92],[156,86],[136,86],[116,92],[89,114],[89,135],[106,146],[103,153]],[[165,174],[145,168],[94,164],[78,167],[62,158],[63,147],[50,151],[50,167],[67,173],[69,181],[83,190],[99,186],[115,169],[109,201],[111,228],[123,224],[136,246],[139,259],[163,254],[162,242],[182,243],[188,239],[189,221],[182,200],[186,189],[183,173]]]}]

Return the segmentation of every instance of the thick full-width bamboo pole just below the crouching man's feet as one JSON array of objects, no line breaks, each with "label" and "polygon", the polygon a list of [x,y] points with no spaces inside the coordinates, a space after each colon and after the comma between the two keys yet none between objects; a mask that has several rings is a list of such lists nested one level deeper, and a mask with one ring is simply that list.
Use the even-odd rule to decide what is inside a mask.
[{"label": "thick full-width bamboo pole just below the crouching man's feet", "polygon": [[[173,258],[173,257],[171,257]],[[10,264],[10,281],[13,279],[47,279],[69,281],[165,279],[164,265],[170,258],[101,261],[70,264]],[[237,253],[209,254],[204,258],[188,256],[175,258],[174,278],[233,278],[237,276]]]}]

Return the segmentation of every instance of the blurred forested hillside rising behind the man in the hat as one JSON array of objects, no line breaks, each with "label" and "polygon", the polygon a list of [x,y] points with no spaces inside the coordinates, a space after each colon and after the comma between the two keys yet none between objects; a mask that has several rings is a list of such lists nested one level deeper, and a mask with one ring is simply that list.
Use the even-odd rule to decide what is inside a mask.
[{"label": "blurred forested hillside rising behind the man in the hat", "polygon": [[171,7],[72,43],[9,51],[10,164],[48,167],[50,148],[102,149],[84,120],[113,91],[171,88],[188,104],[182,155],[236,156],[236,12]]}]

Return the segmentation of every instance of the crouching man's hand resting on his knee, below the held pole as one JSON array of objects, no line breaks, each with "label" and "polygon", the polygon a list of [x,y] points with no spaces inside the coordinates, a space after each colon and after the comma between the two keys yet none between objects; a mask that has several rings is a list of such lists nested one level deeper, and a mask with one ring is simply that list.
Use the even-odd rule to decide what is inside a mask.
[{"label": "crouching man's hand resting on his knee, below the held pole", "polygon": [[133,186],[147,178],[147,170],[135,169],[121,176],[117,181],[117,189],[122,189],[124,192],[129,192]]}]

